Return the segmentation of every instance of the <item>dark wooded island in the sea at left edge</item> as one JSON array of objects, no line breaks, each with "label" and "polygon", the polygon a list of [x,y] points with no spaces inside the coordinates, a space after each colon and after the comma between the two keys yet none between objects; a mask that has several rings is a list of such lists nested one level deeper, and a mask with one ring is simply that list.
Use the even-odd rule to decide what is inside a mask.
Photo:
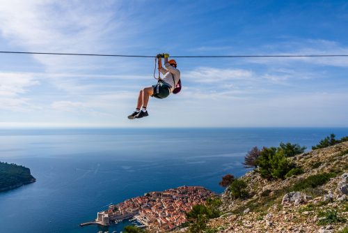
[{"label": "dark wooded island in the sea at left edge", "polygon": [[29,168],[14,163],[0,162],[0,192],[35,181],[36,179],[31,175]]}]

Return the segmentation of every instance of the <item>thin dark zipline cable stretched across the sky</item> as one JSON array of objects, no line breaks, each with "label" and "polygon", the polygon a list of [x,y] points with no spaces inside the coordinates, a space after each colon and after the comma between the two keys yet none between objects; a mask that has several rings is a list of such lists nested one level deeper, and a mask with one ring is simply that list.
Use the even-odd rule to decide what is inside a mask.
[{"label": "thin dark zipline cable stretched across the sky", "polygon": [[[43,55],[68,55],[68,56],[96,56],[96,57],[150,57],[145,55],[123,55],[123,54],[75,54],[58,52],[13,52],[0,51],[1,54],[43,54]],[[348,57],[348,54],[312,54],[312,55],[225,55],[225,56],[171,56],[173,58],[261,58],[261,57]]]}]

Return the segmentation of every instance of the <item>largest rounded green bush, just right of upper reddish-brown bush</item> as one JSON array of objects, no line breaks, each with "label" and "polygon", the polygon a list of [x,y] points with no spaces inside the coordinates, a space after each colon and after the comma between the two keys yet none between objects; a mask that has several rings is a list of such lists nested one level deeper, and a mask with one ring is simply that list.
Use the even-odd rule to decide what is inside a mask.
[{"label": "largest rounded green bush, just right of upper reddish-brown bush", "polygon": [[295,167],[293,163],[290,163],[285,157],[283,149],[271,147],[264,147],[260,153],[260,157],[257,161],[258,172],[262,178],[266,179],[284,179],[285,174],[290,172]]}]

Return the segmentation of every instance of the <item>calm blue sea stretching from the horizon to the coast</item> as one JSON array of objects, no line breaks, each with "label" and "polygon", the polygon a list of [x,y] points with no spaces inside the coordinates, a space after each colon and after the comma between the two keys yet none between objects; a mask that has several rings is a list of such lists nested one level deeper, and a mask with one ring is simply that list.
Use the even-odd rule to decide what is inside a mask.
[{"label": "calm blue sea stretching from the horizon to the coast", "polygon": [[0,232],[121,232],[80,223],[150,191],[204,186],[242,176],[253,146],[317,144],[348,128],[2,129],[0,161],[29,167],[35,183],[0,193]]}]

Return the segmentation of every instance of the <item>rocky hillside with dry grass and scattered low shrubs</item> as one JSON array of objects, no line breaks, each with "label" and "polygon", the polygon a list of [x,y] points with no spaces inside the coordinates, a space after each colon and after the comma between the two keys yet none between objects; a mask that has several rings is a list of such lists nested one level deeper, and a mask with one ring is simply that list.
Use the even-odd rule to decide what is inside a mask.
[{"label": "rocky hillside with dry grass and scattered low shrubs", "polygon": [[303,174],[269,181],[248,172],[241,177],[248,197],[226,189],[223,214],[207,232],[348,232],[348,142],[290,159]]}]

